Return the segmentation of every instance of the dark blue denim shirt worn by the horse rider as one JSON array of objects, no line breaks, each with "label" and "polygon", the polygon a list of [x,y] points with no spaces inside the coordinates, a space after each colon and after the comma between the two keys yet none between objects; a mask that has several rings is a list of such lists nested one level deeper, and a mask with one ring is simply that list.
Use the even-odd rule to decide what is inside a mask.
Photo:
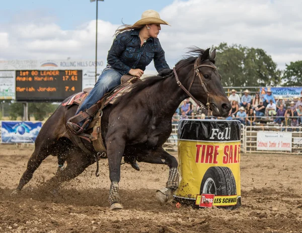
[{"label": "dark blue denim shirt worn by the horse rider", "polygon": [[170,68],[160,40],[150,37],[140,46],[139,30],[119,33],[107,57],[108,64],[122,74],[127,74],[131,68],[145,70],[152,60],[158,72]]}]

